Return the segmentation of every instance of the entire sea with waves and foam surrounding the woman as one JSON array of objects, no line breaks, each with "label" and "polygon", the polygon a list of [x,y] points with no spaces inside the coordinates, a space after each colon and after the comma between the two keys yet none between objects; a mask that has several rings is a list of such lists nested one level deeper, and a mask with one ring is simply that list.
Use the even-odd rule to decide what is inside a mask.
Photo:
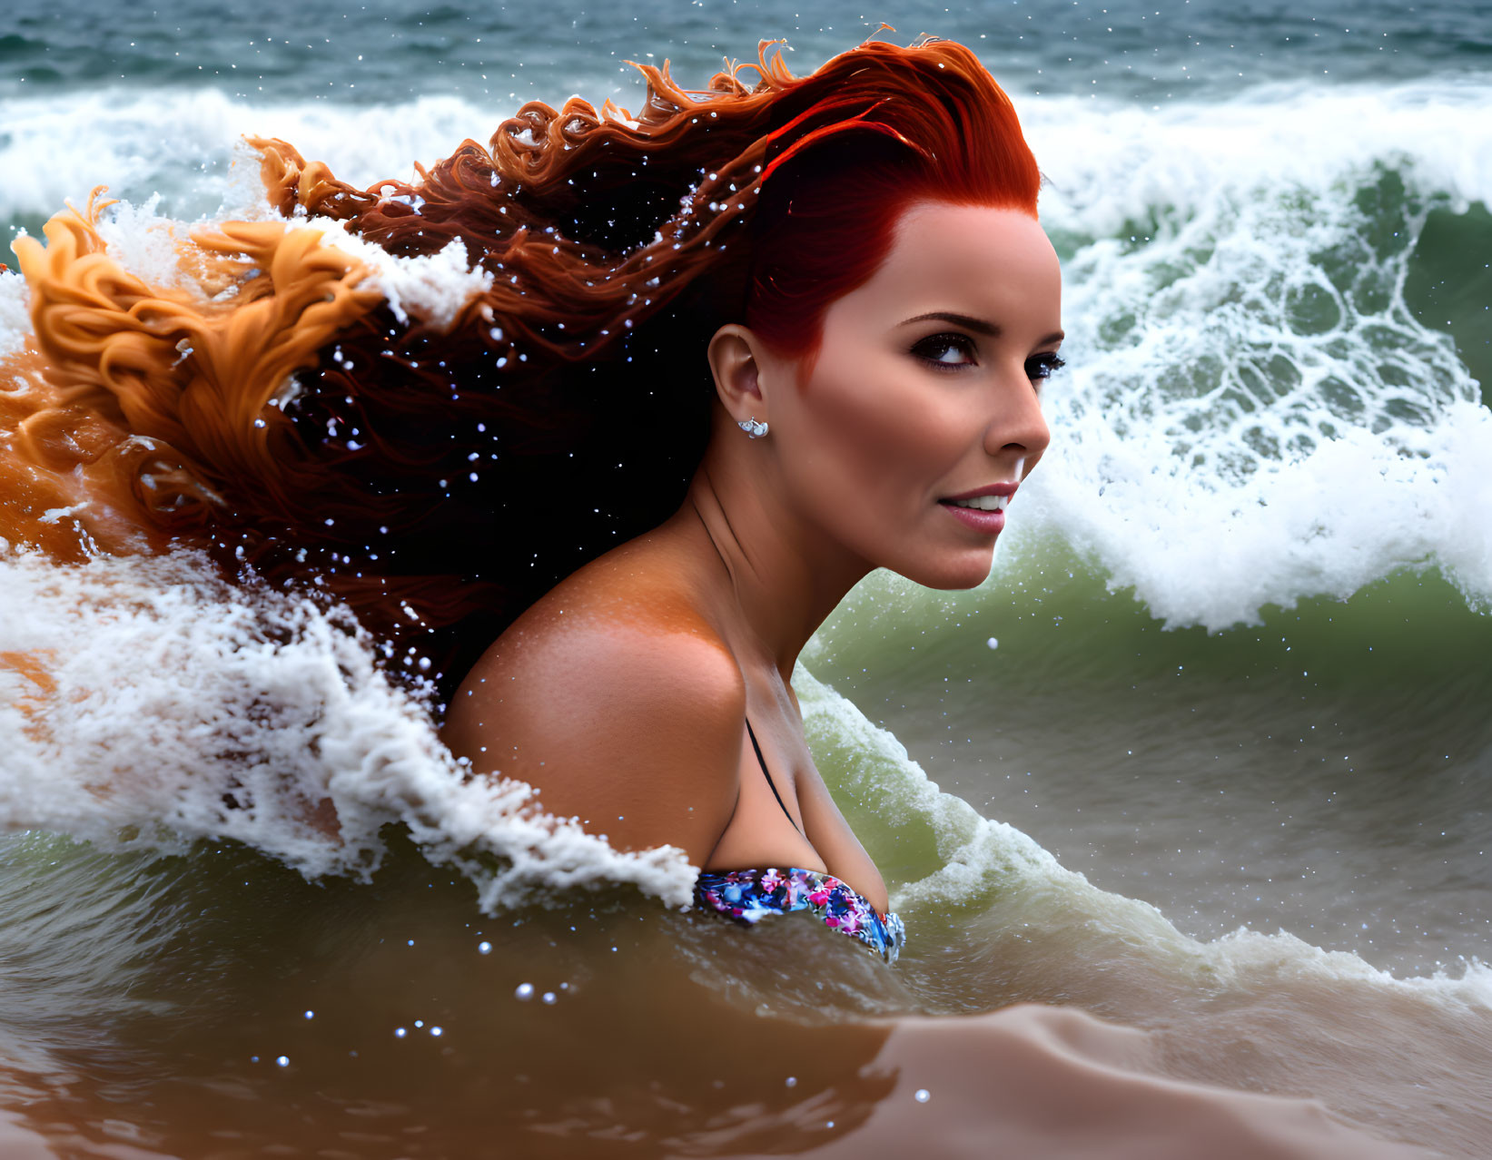
[{"label": "entire sea with waves and foam surrounding the woman", "polygon": [[[242,134],[407,179],[527,100],[636,107],[627,60],[703,88],[786,39],[801,73],[882,21],[1015,100],[1068,334],[989,581],[871,576],[795,681],[903,960],[712,926],[665,860],[546,844],[319,614],[186,558],[9,553],[0,661],[76,690],[37,719],[0,665],[15,1154],[892,1156],[864,1132],[901,1088],[855,1029],[1021,1002],[1143,1032],[1174,1079],[1488,1153],[1485,4],[19,0],[0,240],[104,183],[149,268],[163,222],[254,204]],[[0,274],[0,353],[25,306]],[[306,786],[354,841],[294,820]],[[973,1154],[941,1123],[927,1151]]]}]

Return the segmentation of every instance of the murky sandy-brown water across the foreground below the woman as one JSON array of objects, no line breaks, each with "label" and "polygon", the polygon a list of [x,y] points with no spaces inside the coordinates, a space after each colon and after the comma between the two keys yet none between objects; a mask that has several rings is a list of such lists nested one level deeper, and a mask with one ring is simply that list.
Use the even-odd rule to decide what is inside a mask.
[{"label": "murky sandy-brown water across the foreground below the woman", "polygon": [[494,920],[394,841],[372,884],[313,886],[236,848],[7,839],[31,881],[6,917],[45,887],[66,932],[6,959],[33,1045],[7,1056],[7,1147],[1389,1157],[1413,1153],[1374,1139],[1474,1156],[1492,1130],[1485,1009],[1285,963],[1176,972],[998,905],[916,914],[895,968],[803,915],[737,930],[618,895]]}]

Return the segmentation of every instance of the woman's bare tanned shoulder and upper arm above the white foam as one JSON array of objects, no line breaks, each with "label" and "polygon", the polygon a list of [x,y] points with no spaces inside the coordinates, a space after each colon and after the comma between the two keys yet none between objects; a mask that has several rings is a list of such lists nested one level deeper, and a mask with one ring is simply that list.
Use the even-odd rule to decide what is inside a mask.
[{"label": "woman's bare tanned shoulder and upper arm above the white foam", "polygon": [[442,737],[619,848],[679,845],[701,865],[736,807],[745,705],[740,668],[686,586],[624,552],[494,641]]}]

